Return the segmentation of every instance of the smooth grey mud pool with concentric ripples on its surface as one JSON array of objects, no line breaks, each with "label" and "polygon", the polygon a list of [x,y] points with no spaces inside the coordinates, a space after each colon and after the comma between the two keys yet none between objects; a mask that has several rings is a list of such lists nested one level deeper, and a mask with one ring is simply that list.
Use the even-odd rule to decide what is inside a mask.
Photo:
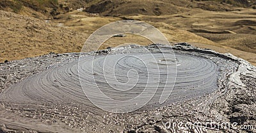
[{"label": "smooth grey mud pool with concentric ripples on its surface", "polygon": [[[168,54],[165,55],[167,58],[163,59],[159,53],[153,54],[156,62],[152,61],[148,54],[109,54],[107,57],[95,56],[94,59],[93,56],[85,56],[80,59],[81,68],[77,66],[76,60],[33,75],[10,86],[1,94],[0,100],[15,104],[76,103],[88,109],[95,109],[92,102],[86,98],[80,81],[83,82],[83,87],[90,90],[99,87],[102,93],[115,100],[135,98],[140,95],[145,86],[154,90],[157,84],[158,89],[154,97],[144,106],[151,108],[161,106],[159,97],[162,95],[164,86],[172,89],[174,81],[172,93],[164,104],[199,97],[218,88],[217,68],[211,60],[189,54],[175,54],[177,59],[175,63],[171,55],[170,59]],[[90,65],[92,61],[94,61],[93,67]],[[176,71],[173,70],[175,66],[177,66],[176,80],[173,78],[175,77],[173,75],[176,75]],[[168,75],[172,76],[166,74],[168,68],[170,68]],[[77,69],[83,75],[80,76],[80,81]],[[114,77],[113,74],[115,74]],[[148,79],[152,82],[148,82]],[[140,98],[143,101],[144,98]],[[99,99],[98,101],[102,104],[107,104],[99,95],[95,95],[95,99]]]}]

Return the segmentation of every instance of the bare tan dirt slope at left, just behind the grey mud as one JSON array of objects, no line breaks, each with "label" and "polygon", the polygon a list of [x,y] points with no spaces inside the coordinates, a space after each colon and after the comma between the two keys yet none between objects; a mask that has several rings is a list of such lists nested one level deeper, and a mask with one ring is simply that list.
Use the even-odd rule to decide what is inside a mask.
[{"label": "bare tan dirt slope at left, just behind the grey mud", "polygon": [[0,10],[0,62],[47,54],[80,52],[84,33]]}]

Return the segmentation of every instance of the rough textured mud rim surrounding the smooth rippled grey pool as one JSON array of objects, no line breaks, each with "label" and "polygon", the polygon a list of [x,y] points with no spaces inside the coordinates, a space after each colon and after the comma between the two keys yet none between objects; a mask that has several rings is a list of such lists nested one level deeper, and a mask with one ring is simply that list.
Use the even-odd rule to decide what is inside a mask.
[{"label": "rough textured mud rim surrounding the smooth rippled grey pool", "polygon": [[[147,49],[156,52],[156,47],[170,49],[170,46],[166,45],[150,45]],[[128,51],[129,49],[132,51],[140,49],[140,47],[134,46],[126,48]],[[255,109],[255,98],[249,97],[249,102],[248,99],[241,98],[243,95],[255,95],[255,91],[252,89],[255,87],[255,67],[231,54],[220,54],[209,49],[199,49],[188,43],[177,43],[172,49],[175,54],[186,54],[211,60],[216,65],[216,79],[218,79],[216,90],[204,93],[204,95],[185,98],[172,104],[169,103],[170,105],[155,106],[154,108],[146,107],[125,114],[107,113],[93,107],[89,102],[85,101],[84,103],[83,101],[83,104],[81,104],[65,98],[61,99],[61,102],[52,103],[47,101],[49,98],[45,98],[46,100],[40,100],[41,102],[35,103],[26,100],[26,104],[22,104],[19,97],[15,97],[17,99],[13,100],[13,97],[9,97],[9,93],[6,93],[17,84],[15,82],[25,82],[26,80],[29,82],[29,78],[33,79],[42,72],[51,71],[54,68],[77,61],[79,58],[77,53],[51,53],[36,58],[3,63],[0,65],[2,91],[0,94],[2,105],[0,108],[0,132],[11,132],[13,130],[27,132],[147,132],[155,130],[156,132],[167,132],[173,129],[164,128],[164,121],[201,121],[204,123],[209,120],[214,121],[216,115],[223,116],[223,121],[240,120],[240,124],[255,123],[255,115],[253,117],[253,114],[244,114],[245,116],[242,115],[244,119],[241,121],[237,113],[243,113],[243,111],[234,111],[233,109],[233,106],[239,108],[241,105],[247,107],[244,112]],[[106,54],[106,51],[99,52],[99,54]],[[90,55],[92,55],[92,52],[84,54],[84,56]],[[236,90],[246,90],[246,92]],[[234,96],[236,97],[234,98]],[[79,95],[79,97],[83,96]],[[237,100],[239,97],[240,99]],[[15,120],[19,122],[15,122]],[[47,125],[47,129],[44,128],[45,125]],[[188,130],[198,129],[195,127],[195,129]],[[209,130],[228,132],[237,131],[238,129],[209,128],[205,130],[208,130],[208,132]]]}]

